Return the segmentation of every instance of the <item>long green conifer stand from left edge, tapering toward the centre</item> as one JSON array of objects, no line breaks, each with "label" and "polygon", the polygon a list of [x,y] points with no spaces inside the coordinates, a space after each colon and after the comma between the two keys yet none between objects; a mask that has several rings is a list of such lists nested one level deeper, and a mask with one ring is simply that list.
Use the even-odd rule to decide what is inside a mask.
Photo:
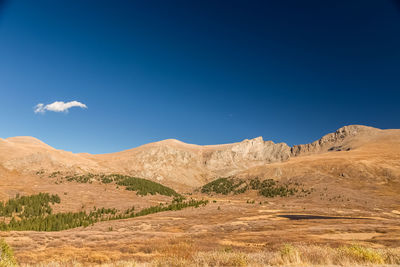
[{"label": "long green conifer stand from left edge, tapering toward the centre", "polygon": [[[90,212],[63,212],[56,214],[53,214],[52,209],[48,209],[48,207],[49,203],[60,203],[58,195],[39,193],[32,196],[17,196],[6,203],[0,203],[1,207],[7,207],[3,209],[4,212],[1,214],[3,220],[0,222],[0,230],[2,231],[60,231],[81,226],[87,227],[99,221],[133,218],[162,211],[181,210],[187,207],[198,208],[201,205],[207,205],[208,200],[190,199],[185,201],[182,196],[177,196],[170,204],[159,204],[138,212],[135,212],[135,208],[132,207],[122,212],[117,209],[94,208]],[[9,212],[8,207],[11,207]],[[27,213],[27,210],[35,212]]]}]

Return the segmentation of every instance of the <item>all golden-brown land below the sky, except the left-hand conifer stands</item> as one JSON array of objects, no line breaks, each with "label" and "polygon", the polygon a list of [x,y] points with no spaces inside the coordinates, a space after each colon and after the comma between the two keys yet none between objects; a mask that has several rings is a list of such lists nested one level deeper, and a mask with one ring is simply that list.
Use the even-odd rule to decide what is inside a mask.
[{"label": "all golden-brown land below the sky, except the left-hand conifer stands", "polygon": [[293,147],[261,137],[212,146],[165,140],[103,155],[0,139],[4,202],[56,194],[58,214],[175,201],[175,193],[138,195],[126,177],[208,203],[1,236],[21,266],[400,265],[400,130],[350,125]]}]

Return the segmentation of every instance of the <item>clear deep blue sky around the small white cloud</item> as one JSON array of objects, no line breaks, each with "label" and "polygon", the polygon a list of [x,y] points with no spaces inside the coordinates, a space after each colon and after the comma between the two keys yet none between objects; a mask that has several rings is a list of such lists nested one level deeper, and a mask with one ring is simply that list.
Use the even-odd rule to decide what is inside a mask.
[{"label": "clear deep blue sky around the small white cloud", "polygon": [[[106,153],[400,128],[395,1],[9,0],[0,12],[2,138]],[[34,113],[54,101],[88,108]]]}]

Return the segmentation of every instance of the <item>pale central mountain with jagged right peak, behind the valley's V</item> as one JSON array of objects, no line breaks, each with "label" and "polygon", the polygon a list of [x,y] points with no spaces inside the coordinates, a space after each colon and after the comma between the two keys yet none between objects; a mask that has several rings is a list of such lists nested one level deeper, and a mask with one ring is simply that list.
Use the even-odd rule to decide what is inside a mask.
[{"label": "pale central mountain with jagged right peak, behind the valley's V", "polygon": [[164,140],[138,148],[96,155],[100,166],[161,182],[199,186],[219,176],[229,176],[249,167],[289,159],[290,147],[261,137],[239,143],[198,146]]}]

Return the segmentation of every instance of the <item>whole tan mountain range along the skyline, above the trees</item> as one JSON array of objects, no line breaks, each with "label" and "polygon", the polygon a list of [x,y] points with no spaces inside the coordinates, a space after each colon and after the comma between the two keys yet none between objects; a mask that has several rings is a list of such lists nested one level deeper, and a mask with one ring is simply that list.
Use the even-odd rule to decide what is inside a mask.
[{"label": "whole tan mountain range along the skyline, above the trees", "polygon": [[[389,173],[398,177],[399,144],[400,130],[361,125],[345,126],[311,144],[293,147],[264,141],[262,137],[208,146],[168,139],[101,155],[74,154],[54,149],[33,137],[13,137],[0,139],[0,166],[28,175],[58,171],[129,174],[183,190],[217,177],[282,178],[330,167],[343,175]],[[314,165],[319,168],[314,169]]]}]

